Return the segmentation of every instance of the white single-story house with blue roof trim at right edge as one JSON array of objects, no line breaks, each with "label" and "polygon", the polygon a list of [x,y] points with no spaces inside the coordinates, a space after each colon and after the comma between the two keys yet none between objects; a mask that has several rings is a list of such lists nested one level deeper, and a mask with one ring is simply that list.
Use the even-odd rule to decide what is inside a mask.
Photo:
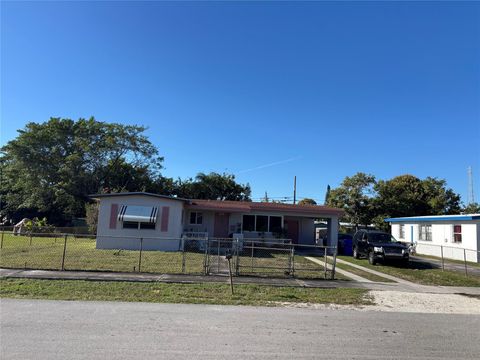
[{"label": "white single-story house with blue roof trim at right edge", "polygon": [[418,254],[480,262],[480,214],[385,219],[399,241],[416,243]]}]

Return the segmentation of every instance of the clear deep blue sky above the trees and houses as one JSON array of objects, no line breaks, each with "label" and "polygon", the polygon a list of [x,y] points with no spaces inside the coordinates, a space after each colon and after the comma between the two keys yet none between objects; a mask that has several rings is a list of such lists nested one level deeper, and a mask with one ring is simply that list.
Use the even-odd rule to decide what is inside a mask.
[{"label": "clear deep blue sky above the trees and houses", "polygon": [[[357,171],[480,199],[480,4],[5,2],[1,143],[51,116],[148,126],[166,176],[323,201]],[[268,166],[270,165],[270,166]]]}]

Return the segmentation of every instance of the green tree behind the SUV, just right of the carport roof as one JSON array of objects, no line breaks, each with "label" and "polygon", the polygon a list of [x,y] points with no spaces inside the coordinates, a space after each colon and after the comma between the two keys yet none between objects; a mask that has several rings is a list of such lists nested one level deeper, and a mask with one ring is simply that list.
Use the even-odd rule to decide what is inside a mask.
[{"label": "green tree behind the SUV, just right of the carport roof", "polygon": [[343,220],[359,225],[369,225],[374,217],[373,187],[375,177],[359,172],[351,177],[346,177],[340,186],[329,192],[326,205],[337,207],[345,211]]}]

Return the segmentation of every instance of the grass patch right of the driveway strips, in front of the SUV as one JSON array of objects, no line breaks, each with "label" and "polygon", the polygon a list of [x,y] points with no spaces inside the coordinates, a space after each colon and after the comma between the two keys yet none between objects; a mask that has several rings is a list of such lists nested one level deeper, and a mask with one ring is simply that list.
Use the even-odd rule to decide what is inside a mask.
[{"label": "grass patch right of the driveway strips, in front of the SUV", "polygon": [[423,285],[438,286],[480,286],[480,277],[464,274],[452,270],[427,267],[424,264],[410,262],[408,267],[400,265],[370,265],[366,259],[354,259],[351,256],[339,256],[339,259],[361,265],[363,267],[383,272],[388,275]]}]

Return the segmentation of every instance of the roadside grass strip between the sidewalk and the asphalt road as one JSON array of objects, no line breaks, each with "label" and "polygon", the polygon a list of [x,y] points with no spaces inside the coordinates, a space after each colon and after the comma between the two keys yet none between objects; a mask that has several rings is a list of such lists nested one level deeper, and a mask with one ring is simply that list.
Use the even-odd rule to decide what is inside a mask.
[{"label": "roadside grass strip between the sidewalk and the asphalt road", "polygon": [[224,284],[164,284],[76,280],[0,280],[0,297],[16,299],[138,301],[281,306],[282,303],[369,305],[364,289],[319,289]]}]

